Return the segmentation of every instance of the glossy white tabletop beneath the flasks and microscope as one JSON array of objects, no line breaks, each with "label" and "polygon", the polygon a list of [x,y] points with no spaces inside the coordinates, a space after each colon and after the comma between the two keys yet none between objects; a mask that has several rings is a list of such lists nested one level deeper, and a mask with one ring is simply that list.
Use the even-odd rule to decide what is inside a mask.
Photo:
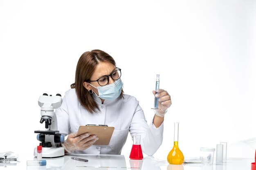
[{"label": "glossy white tabletop beneath the flasks and microscope", "polygon": [[[88,162],[75,161],[70,157],[88,159]],[[124,155],[65,155],[60,158],[45,159],[46,166],[27,166],[27,161],[36,160],[33,155],[19,154],[18,161],[0,163],[4,170],[251,170],[253,159],[227,158],[227,163],[203,166],[200,163],[183,163],[170,165],[164,159],[144,157],[142,160],[131,160]]]}]

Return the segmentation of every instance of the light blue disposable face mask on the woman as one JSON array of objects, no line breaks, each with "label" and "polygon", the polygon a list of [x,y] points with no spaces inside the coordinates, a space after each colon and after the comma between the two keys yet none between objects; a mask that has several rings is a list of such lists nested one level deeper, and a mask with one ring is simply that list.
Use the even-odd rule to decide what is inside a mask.
[{"label": "light blue disposable face mask on the woman", "polygon": [[[92,86],[92,84],[90,84],[90,85]],[[108,84],[106,86],[95,87],[98,89],[99,96],[95,92],[94,93],[101,99],[115,100],[115,99],[117,99],[117,97],[120,96],[121,91],[122,91],[122,86],[123,86],[123,82],[121,81],[121,79],[118,79],[112,84]]]}]

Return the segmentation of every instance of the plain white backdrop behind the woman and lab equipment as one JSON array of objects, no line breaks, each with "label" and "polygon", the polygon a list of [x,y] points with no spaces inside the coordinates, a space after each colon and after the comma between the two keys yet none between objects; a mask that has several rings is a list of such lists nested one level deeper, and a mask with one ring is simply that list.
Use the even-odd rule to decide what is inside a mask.
[{"label": "plain white backdrop behind the woman and lab equipment", "polygon": [[[0,0],[0,152],[33,154],[38,97],[64,96],[81,54],[101,49],[148,123],[156,74],[171,95],[155,157],[173,147],[173,122],[185,157],[220,142],[228,157],[254,157],[255,9],[255,0]],[[129,135],[122,155],[131,146]]]}]

